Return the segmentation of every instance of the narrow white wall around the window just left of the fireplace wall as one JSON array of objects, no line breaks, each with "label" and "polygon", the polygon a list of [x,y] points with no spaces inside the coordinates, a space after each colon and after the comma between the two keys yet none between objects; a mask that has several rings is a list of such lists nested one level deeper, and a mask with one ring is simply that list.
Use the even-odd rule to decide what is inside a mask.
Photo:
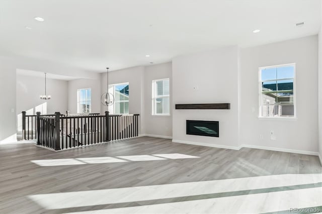
[{"label": "narrow white wall around the window just left of the fireplace wall", "polygon": [[[170,116],[152,116],[152,80],[170,78]],[[172,63],[145,67],[144,71],[144,134],[172,137]]]}]

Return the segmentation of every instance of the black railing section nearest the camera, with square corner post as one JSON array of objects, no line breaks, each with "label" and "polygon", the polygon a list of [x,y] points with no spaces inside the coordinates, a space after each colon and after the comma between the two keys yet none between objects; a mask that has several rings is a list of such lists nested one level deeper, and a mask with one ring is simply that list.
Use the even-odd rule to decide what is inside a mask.
[{"label": "black railing section nearest the camera, with square corner post", "polygon": [[37,144],[54,150],[83,147],[138,136],[139,115],[36,117]]}]

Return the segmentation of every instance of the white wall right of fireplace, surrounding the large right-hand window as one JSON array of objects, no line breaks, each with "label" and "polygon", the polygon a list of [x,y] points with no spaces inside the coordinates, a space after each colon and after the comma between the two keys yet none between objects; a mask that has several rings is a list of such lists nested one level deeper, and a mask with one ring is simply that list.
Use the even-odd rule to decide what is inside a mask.
[{"label": "white wall right of fireplace, surrounding the large right-hand window", "polygon": [[[317,152],[317,36],[245,48],[240,53],[241,144]],[[297,120],[260,120],[258,68],[287,63],[296,63]],[[270,140],[271,130],[276,140]]]}]

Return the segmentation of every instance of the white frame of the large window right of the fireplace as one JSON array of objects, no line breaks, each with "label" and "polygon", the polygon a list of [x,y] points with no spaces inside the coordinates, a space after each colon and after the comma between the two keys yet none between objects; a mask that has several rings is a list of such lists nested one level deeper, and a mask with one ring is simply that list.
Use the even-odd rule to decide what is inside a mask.
[{"label": "white frame of the large window right of the fireplace", "polygon": [[[262,116],[262,69],[266,68],[279,68],[279,67],[287,67],[287,66],[293,66],[294,67],[294,77],[293,77],[293,105],[294,105],[294,115],[293,116],[274,116],[274,117],[263,117]],[[258,69],[259,73],[259,119],[274,119],[274,120],[296,120],[296,63],[289,63],[289,64],[282,64],[282,65],[272,65],[272,66],[265,66],[265,67],[259,67]],[[271,81],[276,81],[277,79],[272,79]],[[270,80],[266,80],[270,81]]]}]

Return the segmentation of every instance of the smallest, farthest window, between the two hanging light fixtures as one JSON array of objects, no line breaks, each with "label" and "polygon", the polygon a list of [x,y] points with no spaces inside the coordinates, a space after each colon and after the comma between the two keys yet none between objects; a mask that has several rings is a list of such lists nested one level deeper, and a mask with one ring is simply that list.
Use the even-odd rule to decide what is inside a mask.
[{"label": "smallest, farthest window, between the two hanging light fixtures", "polygon": [[91,113],[92,111],[91,88],[77,90],[77,113]]}]

